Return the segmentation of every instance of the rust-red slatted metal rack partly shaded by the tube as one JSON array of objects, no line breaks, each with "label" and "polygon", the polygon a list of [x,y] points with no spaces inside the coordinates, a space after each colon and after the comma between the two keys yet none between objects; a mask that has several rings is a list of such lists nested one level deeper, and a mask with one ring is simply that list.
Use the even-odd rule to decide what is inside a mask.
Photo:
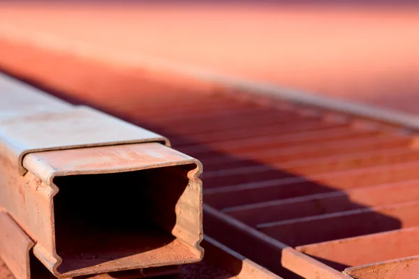
[{"label": "rust-red slatted metal rack partly shaded by the tube", "polygon": [[[202,161],[208,166],[203,175],[206,234],[279,276],[345,278],[341,271],[351,264],[337,266],[293,246],[335,239],[336,246],[348,243],[342,249],[362,261],[369,246],[351,248],[347,239],[374,239],[418,226],[419,160],[412,125],[378,123],[364,109],[362,116],[348,114],[353,107],[339,113],[337,106],[331,113],[332,103],[317,99],[302,107],[294,99],[271,102],[260,100],[263,95],[252,97],[253,92],[220,93],[208,84],[179,85],[163,75],[139,77],[89,61],[66,63],[83,68],[101,85],[87,90],[76,76],[70,86],[64,73],[52,78],[41,66],[30,75],[66,91],[61,96],[166,135],[176,149]],[[124,91],[130,93],[108,89],[114,82],[129,84]],[[246,210],[254,209],[247,217]],[[240,211],[237,220],[234,214]],[[375,260],[366,256],[362,263]]]}]

